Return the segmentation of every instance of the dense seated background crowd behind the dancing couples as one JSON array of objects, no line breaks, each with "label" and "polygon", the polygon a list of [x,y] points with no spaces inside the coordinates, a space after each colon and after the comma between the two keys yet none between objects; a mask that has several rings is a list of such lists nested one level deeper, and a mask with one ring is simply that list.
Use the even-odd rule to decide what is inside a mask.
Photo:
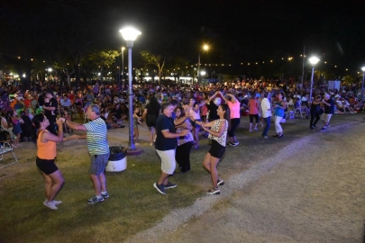
[{"label": "dense seated background crowd behind the dancing couples", "polygon": [[[312,100],[316,95],[330,94],[334,101],[335,113],[362,112],[364,109],[362,97],[356,95],[359,89],[357,85],[342,86],[341,90],[327,90],[325,85],[316,82],[314,87]],[[29,129],[32,127],[32,116],[37,112],[44,111],[42,108],[47,99],[46,91],[49,90],[52,91],[51,95],[58,103],[54,111],[55,115],[69,116],[70,119],[78,117],[86,121],[87,106],[91,103],[97,103],[109,129],[123,127],[122,122],[129,119],[128,88],[128,85],[111,85],[100,81],[94,85],[83,85],[81,88],[61,86],[50,82],[32,82],[30,90],[23,90],[19,85],[2,85],[0,86],[2,130],[9,132],[11,139],[14,139],[15,146],[19,145],[18,141],[30,140],[34,134]],[[311,101],[309,101],[307,82],[302,86],[300,82],[296,83],[292,78],[243,79],[242,81],[237,79],[231,82],[205,85],[183,85],[172,81],[164,85],[140,83],[132,85],[132,89],[134,94],[132,105],[133,107],[139,107],[134,117],[136,119],[134,124],[136,128],[141,123],[146,104],[150,103],[151,97],[155,97],[157,103],[174,99],[182,106],[188,105],[191,102],[190,99],[194,99],[194,105],[198,105],[204,120],[206,114],[209,113],[208,111],[212,112],[206,104],[206,101],[212,95],[217,95],[222,103],[225,103],[227,98],[237,99],[240,103],[240,110],[244,112],[249,111],[249,102],[252,96],[261,100],[266,91],[269,93],[270,102],[274,102],[280,93],[283,95],[288,109],[290,107],[300,107],[306,111],[307,118],[310,116]],[[219,92],[219,94],[216,94],[216,92]],[[19,126],[21,129],[16,129]],[[22,132],[19,133],[20,130]],[[70,132],[71,130],[66,131]],[[198,148],[197,132],[197,129],[193,131],[196,140],[194,148]],[[153,142],[153,134],[151,134],[150,142]],[[231,142],[235,141],[232,140]]]}]

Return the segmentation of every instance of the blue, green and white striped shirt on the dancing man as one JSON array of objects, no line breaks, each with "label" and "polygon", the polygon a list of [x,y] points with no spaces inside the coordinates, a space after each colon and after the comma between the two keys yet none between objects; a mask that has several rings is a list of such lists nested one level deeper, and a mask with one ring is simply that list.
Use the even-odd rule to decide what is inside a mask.
[{"label": "blue, green and white striped shirt on the dancing man", "polygon": [[100,117],[84,124],[87,129],[87,150],[90,155],[104,155],[109,153],[106,139],[106,124]]}]

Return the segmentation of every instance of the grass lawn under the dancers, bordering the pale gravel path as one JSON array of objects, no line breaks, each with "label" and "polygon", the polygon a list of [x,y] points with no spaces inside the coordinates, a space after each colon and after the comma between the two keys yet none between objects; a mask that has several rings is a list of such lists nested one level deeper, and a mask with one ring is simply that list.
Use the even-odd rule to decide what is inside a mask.
[{"label": "grass lawn under the dancers, bordering the pale gravel path", "polygon": [[[269,157],[275,153],[273,148],[297,139],[297,133],[291,136],[290,130],[307,132],[307,122],[297,121],[303,123],[303,128],[294,123],[284,124],[286,139],[260,139],[260,131],[247,131],[246,120],[242,118],[238,130],[241,144],[227,148],[219,167],[224,179]],[[201,138],[200,148],[192,150],[191,171],[172,176],[171,182],[178,187],[162,195],[152,186],[160,177],[160,159],[154,147],[149,146],[146,129],[141,128],[140,132],[142,155],[127,157],[128,166],[123,172],[106,173],[110,198],[94,205],[87,204],[94,190],[88,175],[86,141],[59,143],[56,162],[66,183],[56,198],[63,202],[57,211],[42,204],[43,178],[35,166],[35,145],[30,142],[15,148],[19,162],[0,169],[0,242],[121,242],[151,228],[171,210],[209,196],[205,191],[211,184],[210,175],[201,165],[210,148],[207,139]],[[128,129],[110,130],[108,139],[110,146],[126,146]]]}]

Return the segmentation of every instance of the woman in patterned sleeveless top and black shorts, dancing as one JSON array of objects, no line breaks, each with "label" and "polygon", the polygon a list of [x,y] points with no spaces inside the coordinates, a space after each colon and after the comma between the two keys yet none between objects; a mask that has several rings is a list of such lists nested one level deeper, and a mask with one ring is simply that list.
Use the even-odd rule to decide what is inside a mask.
[{"label": "woman in patterned sleeveless top and black shorts, dancing", "polygon": [[225,152],[227,130],[229,130],[229,124],[231,123],[231,111],[227,104],[219,105],[217,114],[219,115],[219,119],[215,121],[207,123],[197,121],[209,133],[209,139],[212,139],[212,147],[209,149],[203,161],[203,166],[212,177],[213,187],[206,192],[211,195],[221,193],[218,185],[224,184],[224,180],[218,176],[217,166]]}]

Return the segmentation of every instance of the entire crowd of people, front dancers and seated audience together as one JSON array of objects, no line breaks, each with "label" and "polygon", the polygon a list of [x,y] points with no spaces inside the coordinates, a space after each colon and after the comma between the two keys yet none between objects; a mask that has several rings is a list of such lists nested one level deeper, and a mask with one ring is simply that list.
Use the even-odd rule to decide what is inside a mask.
[{"label": "entire crowd of people, front dancers and seated audience together", "polygon": [[[252,81],[252,82],[251,82]],[[354,86],[353,86],[354,87]],[[356,97],[352,88],[325,92],[315,88],[314,98],[309,99],[308,90],[298,90],[290,82],[265,82],[258,80],[234,81],[225,84],[208,85],[157,85],[145,83],[133,85],[132,117],[126,85],[85,85],[83,88],[59,87],[57,85],[34,84],[31,90],[20,87],[1,87],[0,109],[3,139],[7,136],[12,146],[21,146],[21,141],[37,143],[36,164],[45,179],[46,201],[44,205],[56,210],[60,201],[54,201],[64,183],[63,176],[54,164],[56,143],[64,139],[65,132],[84,130],[83,135],[70,139],[87,139],[90,154],[90,177],[95,196],[87,203],[103,202],[109,197],[106,191],[105,166],[109,157],[106,130],[123,128],[123,121],[133,120],[133,137],[140,145],[138,127],[145,123],[149,129],[149,144],[155,146],[161,160],[161,175],[153,184],[159,193],[174,188],[169,181],[176,170],[187,173],[190,170],[191,149],[199,149],[199,139],[209,139],[211,148],[203,159],[203,166],[210,173],[212,188],[208,194],[219,194],[217,165],[224,156],[226,146],[238,146],[235,131],[240,125],[241,115],[248,112],[250,132],[259,130],[263,139],[269,139],[271,116],[274,115],[275,138],[283,138],[280,124],[287,111],[306,112],[310,129],[324,120],[326,130],[333,113],[362,112],[364,103]],[[84,119],[78,124],[75,118]],[[255,120],[255,122],[254,122]],[[227,137],[228,135],[228,137]]]}]

